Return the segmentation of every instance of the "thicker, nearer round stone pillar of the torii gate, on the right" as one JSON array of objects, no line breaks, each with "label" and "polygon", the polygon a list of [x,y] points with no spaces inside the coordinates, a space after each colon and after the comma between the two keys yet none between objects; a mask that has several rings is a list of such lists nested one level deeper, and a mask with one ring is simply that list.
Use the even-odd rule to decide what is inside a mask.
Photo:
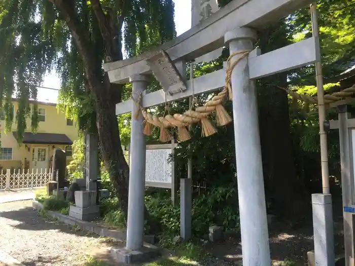
[{"label": "thicker, nearer round stone pillar of the torii gate, on the right", "polygon": [[[224,38],[233,54],[253,50],[257,33],[250,28],[237,28]],[[238,57],[234,56],[231,64]],[[247,57],[235,66],[231,84],[243,265],[270,266],[256,87],[249,80]]]}]

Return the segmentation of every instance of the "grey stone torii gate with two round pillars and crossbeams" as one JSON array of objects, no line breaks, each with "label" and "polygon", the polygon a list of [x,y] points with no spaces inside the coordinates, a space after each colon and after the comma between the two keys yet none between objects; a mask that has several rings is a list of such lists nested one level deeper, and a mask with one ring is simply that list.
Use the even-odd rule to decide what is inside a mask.
[{"label": "grey stone torii gate with two round pillars and crossbeams", "polygon": [[[176,72],[179,69],[182,73],[186,69],[186,62],[228,45],[231,54],[252,51],[238,62],[231,74],[243,265],[271,264],[255,80],[314,63],[319,59],[319,41],[317,37],[311,37],[261,54],[260,49],[254,49],[257,40],[256,29],[286,17],[311,2],[234,0],[211,17],[157,49],[104,65],[112,83],[131,82],[133,88],[133,99],[116,105],[116,115],[132,112],[127,243],[122,257],[127,257],[129,251],[139,251],[143,248],[146,150],[143,134],[144,118],[141,115],[138,118],[135,116],[139,109],[136,104],[138,98],[141,97],[141,107],[147,108],[187,98],[193,94],[213,92],[225,86],[226,69],[222,69],[193,79],[193,83],[191,81],[185,84],[180,80],[178,83],[180,91],[177,90],[179,92],[172,91],[172,87],[176,89],[175,84],[170,88],[163,86],[160,91],[143,94],[148,86],[147,77],[155,70],[148,62],[163,50],[175,64],[173,70]],[[234,56],[230,63],[233,64],[240,57],[241,54]],[[177,78],[181,77],[179,71],[176,73]],[[158,76],[157,73],[154,74]],[[122,258],[122,261],[128,262],[129,259],[126,257]]]}]

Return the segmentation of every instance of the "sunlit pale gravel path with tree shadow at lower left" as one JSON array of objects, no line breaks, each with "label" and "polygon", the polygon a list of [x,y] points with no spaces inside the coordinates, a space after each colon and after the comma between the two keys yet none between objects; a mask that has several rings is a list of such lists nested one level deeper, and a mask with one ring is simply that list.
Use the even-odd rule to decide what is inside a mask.
[{"label": "sunlit pale gravel path with tree shadow at lower left", "polygon": [[105,245],[96,235],[46,221],[31,201],[0,204],[0,250],[26,266],[82,266],[86,251]]}]

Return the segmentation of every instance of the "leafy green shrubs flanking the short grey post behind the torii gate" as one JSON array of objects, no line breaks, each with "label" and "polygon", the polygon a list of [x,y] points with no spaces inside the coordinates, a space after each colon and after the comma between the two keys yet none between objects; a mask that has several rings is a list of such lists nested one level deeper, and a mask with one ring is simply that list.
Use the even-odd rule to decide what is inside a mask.
[{"label": "leafy green shrubs flanking the short grey post behind the torii gate", "polygon": [[[209,226],[215,224],[230,231],[240,230],[238,202],[233,187],[234,184],[218,186],[193,200],[192,233],[195,237],[204,236]],[[168,244],[172,237],[180,234],[180,206],[173,207],[169,194],[164,191],[146,196],[145,201],[151,216],[162,226],[161,244]],[[145,230],[152,231],[148,226]]]}]

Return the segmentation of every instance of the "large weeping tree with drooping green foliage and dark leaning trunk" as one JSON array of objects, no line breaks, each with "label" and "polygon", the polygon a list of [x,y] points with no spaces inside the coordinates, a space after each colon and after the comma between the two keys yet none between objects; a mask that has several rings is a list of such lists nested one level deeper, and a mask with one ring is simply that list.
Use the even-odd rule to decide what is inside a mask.
[{"label": "large weeping tree with drooping green foliage and dark leaning trunk", "polygon": [[[59,107],[82,131],[98,133],[101,155],[127,209],[128,166],[121,146],[115,105],[124,86],[111,84],[103,62],[132,56],[175,35],[172,0],[4,0],[0,2],[0,104],[6,128],[18,98],[18,141],[38,128],[37,87],[55,69],[61,79]],[[129,92],[126,92],[128,97]]]}]

